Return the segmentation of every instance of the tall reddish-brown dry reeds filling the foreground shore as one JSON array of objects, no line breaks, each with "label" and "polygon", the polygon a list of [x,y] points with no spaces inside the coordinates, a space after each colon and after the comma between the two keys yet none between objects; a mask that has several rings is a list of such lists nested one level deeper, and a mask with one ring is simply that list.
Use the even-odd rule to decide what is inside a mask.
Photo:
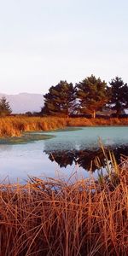
[{"label": "tall reddish-brown dry reeds filling the foreground shore", "polygon": [[127,255],[128,168],[93,177],[0,185],[0,255]]}]

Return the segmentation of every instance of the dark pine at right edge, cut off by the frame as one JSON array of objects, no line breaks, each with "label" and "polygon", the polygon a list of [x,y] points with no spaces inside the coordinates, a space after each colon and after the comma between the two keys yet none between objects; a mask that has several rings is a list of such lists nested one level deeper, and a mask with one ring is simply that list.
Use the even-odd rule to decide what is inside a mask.
[{"label": "dark pine at right edge, cut off by the frame", "polygon": [[108,106],[116,110],[116,115],[119,116],[125,108],[128,108],[128,85],[124,84],[119,77],[112,79],[109,84],[111,85],[111,96]]}]

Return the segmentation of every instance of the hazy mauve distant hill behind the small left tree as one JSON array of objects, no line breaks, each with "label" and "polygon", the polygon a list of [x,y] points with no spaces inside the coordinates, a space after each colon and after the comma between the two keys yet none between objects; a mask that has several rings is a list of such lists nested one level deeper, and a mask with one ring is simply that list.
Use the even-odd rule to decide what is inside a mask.
[{"label": "hazy mauve distant hill behind the small left tree", "polygon": [[17,95],[7,95],[0,93],[0,98],[3,96],[9,102],[13,113],[39,112],[44,105],[42,94],[20,93]]}]

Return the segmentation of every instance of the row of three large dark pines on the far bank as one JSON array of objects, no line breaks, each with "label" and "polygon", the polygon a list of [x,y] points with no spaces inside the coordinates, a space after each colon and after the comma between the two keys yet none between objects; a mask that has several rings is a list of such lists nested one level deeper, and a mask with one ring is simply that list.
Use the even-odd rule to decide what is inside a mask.
[{"label": "row of three large dark pines on the far bank", "polygon": [[96,117],[97,111],[113,109],[119,116],[128,108],[128,85],[115,77],[109,84],[91,75],[73,86],[67,81],[51,86],[44,95],[43,115]]}]

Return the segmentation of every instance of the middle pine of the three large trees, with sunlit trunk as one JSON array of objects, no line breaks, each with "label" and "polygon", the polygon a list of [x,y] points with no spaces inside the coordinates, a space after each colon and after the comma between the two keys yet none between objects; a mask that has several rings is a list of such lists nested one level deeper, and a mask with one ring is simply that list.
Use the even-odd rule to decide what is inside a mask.
[{"label": "middle pine of the three large trees, with sunlit trunk", "polygon": [[76,84],[79,112],[90,113],[95,118],[96,111],[102,110],[108,101],[107,88],[106,82],[94,75]]}]

